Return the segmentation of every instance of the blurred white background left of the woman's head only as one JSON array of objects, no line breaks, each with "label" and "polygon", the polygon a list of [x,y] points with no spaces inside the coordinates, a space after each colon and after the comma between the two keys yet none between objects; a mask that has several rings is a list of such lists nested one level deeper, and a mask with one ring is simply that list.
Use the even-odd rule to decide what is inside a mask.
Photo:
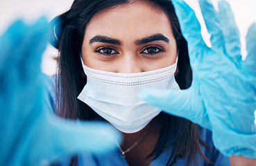
[{"label": "blurred white background left of the woman's head only", "polygon": [[[16,19],[24,19],[30,23],[41,16],[48,17],[49,21],[67,11],[73,0],[0,0],[0,34]],[[56,62],[53,60],[58,54],[56,48],[49,44],[44,51],[42,71],[52,75],[56,71]]]}]

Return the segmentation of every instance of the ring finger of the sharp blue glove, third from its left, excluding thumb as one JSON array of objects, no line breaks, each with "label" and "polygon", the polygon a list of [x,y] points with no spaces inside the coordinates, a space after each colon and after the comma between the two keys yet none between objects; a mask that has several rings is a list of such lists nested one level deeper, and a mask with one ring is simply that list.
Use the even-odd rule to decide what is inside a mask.
[{"label": "ring finger of the sharp blue glove, third from its left, excluding thumb", "polygon": [[227,1],[219,1],[217,16],[221,24],[226,52],[234,59],[234,62],[241,62],[240,33],[230,4]]}]

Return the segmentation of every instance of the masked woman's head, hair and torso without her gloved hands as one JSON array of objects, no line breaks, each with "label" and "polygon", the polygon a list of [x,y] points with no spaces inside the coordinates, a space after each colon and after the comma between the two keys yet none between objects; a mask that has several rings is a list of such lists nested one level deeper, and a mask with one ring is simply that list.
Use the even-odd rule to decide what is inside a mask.
[{"label": "masked woman's head, hair and torso without her gloved hands", "polygon": [[[123,132],[123,142],[117,144],[117,151],[106,156],[73,156],[70,165],[81,165],[83,160],[87,165],[229,165],[228,158],[212,145],[210,131],[184,118],[151,112],[153,108],[131,109],[126,113],[129,107],[123,107],[136,98],[140,88],[120,85],[118,82],[126,81],[115,82],[114,77],[134,76],[128,73],[142,73],[139,77],[144,77],[143,73],[162,72],[160,68],[169,66],[175,71],[178,59],[176,81],[180,89],[191,85],[187,42],[171,1],[74,1],[71,9],[59,18],[61,33],[53,43],[60,51],[56,113],[79,120],[95,120],[100,115]],[[178,89],[174,78],[167,80],[157,81],[158,88]],[[139,87],[155,85],[146,83]],[[130,104],[140,107],[138,100]],[[141,119],[133,116],[136,111],[141,112],[136,114]],[[147,119],[148,112],[154,116]],[[138,124],[137,121],[145,119],[145,123]],[[91,163],[88,158],[93,158]]]}]

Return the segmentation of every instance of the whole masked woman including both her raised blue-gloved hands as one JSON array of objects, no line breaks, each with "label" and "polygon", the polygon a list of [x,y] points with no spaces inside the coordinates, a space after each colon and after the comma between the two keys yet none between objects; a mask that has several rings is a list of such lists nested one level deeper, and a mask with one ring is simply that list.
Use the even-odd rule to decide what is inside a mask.
[{"label": "whole masked woman including both her raised blue-gloved hands", "polygon": [[[207,48],[191,9],[179,0],[173,4],[189,44],[192,84],[186,42],[169,1],[75,1],[71,10],[61,16],[62,32],[56,33],[60,49],[56,111],[64,118],[79,118],[80,124],[53,118],[46,112],[45,106],[49,104],[44,103],[42,73],[38,69],[40,56],[37,56],[44,50],[49,33],[45,21],[41,19],[35,26],[18,21],[11,26],[0,40],[3,78],[0,129],[4,133],[0,141],[3,149],[0,164],[46,165],[47,160],[53,160],[62,151],[87,150],[63,162],[65,165],[82,162],[83,165],[229,165],[223,153],[230,156],[232,165],[255,165],[255,159],[250,158],[256,158],[256,130],[251,123],[256,103],[253,73],[256,26],[249,29],[248,60],[241,63],[239,46],[234,44],[239,37],[234,35],[236,29],[230,28],[232,19],[220,18],[220,28],[213,17],[216,13],[212,5],[200,1],[212,35],[212,48]],[[181,89],[190,84],[191,87],[178,91],[174,75]],[[137,77],[142,79],[133,82]],[[234,81],[238,84],[233,84]],[[150,94],[142,91],[139,96],[167,113],[159,113],[161,109],[130,93],[151,85],[171,91],[146,90]],[[76,100],[77,97],[87,104]],[[124,140],[114,145],[119,147],[116,151],[99,154],[104,149],[113,149],[116,142],[112,141],[110,133],[114,131],[109,127],[88,123],[104,121],[94,111],[122,131]],[[212,130],[213,135],[168,113],[196,122]],[[117,133],[114,136],[119,140]],[[221,153],[213,146],[212,138]]]}]

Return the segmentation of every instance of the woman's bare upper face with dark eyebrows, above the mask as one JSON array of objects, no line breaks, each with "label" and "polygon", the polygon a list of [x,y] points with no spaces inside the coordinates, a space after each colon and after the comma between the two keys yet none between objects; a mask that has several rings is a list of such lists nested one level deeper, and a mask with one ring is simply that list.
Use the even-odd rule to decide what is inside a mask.
[{"label": "woman's bare upper face with dark eyebrows, above the mask", "polygon": [[171,66],[176,50],[167,15],[138,1],[96,13],[85,28],[82,56],[89,68],[139,73]]}]

